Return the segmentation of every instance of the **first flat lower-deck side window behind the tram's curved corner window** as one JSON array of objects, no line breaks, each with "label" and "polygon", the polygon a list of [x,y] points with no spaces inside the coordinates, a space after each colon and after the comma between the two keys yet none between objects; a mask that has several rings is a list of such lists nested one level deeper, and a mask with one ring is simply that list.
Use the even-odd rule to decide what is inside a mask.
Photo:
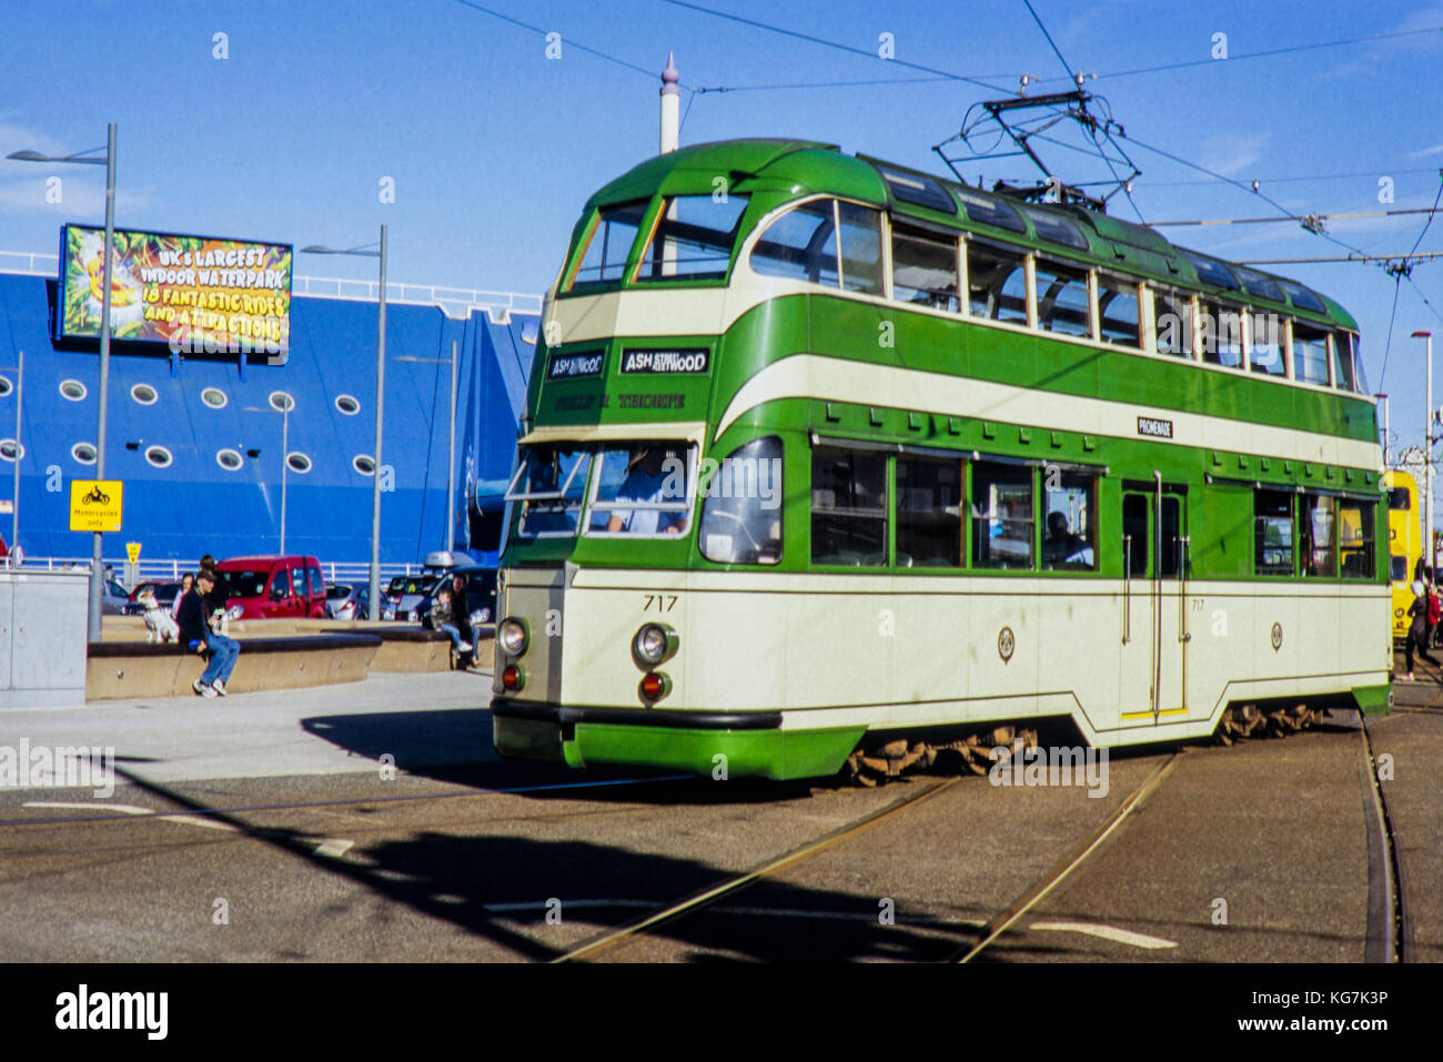
[{"label": "first flat lower-deck side window behind the tram's curved corner window", "polygon": [[812,564],[887,563],[887,459],[874,450],[812,449]]}]

